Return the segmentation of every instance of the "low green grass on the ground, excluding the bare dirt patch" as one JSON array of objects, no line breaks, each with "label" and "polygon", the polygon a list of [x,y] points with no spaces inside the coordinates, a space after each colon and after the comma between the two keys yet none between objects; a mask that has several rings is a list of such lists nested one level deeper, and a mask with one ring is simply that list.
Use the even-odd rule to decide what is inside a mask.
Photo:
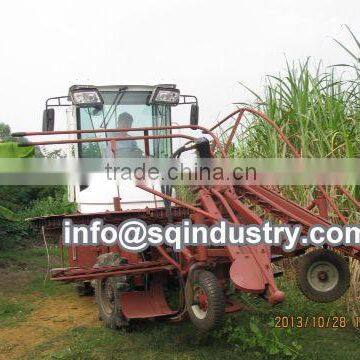
[{"label": "low green grass on the ground, excluding the bare dirt patch", "polygon": [[[44,299],[55,299],[60,295],[70,296],[71,285],[45,282],[45,251],[41,248],[28,249],[24,254],[2,253],[2,261],[12,265],[14,274],[23,274],[23,262],[32,276],[22,287],[14,283],[2,289],[0,302],[0,329],[11,329],[23,324],[27,317]],[[21,264],[17,267],[16,264]],[[0,275],[1,276],[1,275]],[[243,302],[251,311],[227,315],[222,330],[208,336],[200,335],[189,321],[166,323],[142,321],[129,330],[112,331],[102,326],[75,325],[63,331],[50,331],[43,341],[34,346],[27,358],[46,359],[283,359],[283,355],[264,353],[257,342],[254,346],[244,345],[244,339],[251,340],[254,324],[260,329],[260,341],[271,344],[278,341],[284,346],[299,347],[299,359],[350,359],[358,352],[359,333],[348,326],[345,329],[274,329],[276,316],[347,316],[344,300],[330,304],[308,301],[297,289],[293,280],[278,279],[279,287],[285,291],[286,300],[278,306],[271,306],[251,295],[242,295]],[[73,296],[73,295],[71,295]],[[82,305],[83,306],[83,305]],[[79,319],[80,320],[80,319]],[[229,324],[235,326],[229,327]],[[232,332],[229,332],[230,330]],[[232,330],[234,329],[234,330]],[[235,333],[235,340],[234,340]],[[281,346],[282,346],[281,345]]]}]

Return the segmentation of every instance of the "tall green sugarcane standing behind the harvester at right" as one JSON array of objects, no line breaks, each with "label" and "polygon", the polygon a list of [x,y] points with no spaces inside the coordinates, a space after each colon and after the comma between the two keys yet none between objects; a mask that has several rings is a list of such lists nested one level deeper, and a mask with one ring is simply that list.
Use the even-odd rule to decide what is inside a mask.
[{"label": "tall green sugarcane standing behind the harvester at right", "polygon": [[[360,82],[343,79],[335,71],[310,60],[287,63],[286,71],[269,76],[263,93],[252,107],[265,113],[280,127],[304,158],[358,158],[360,156]],[[357,89],[355,91],[354,87]],[[265,121],[248,115],[246,130],[234,140],[235,158],[291,158],[291,150]],[[360,198],[360,187],[349,186]],[[309,205],[314,186],[281,187],[282,193],[303,206]],[[358,209],[334,189],[330,195],[340,210],[358,221]]]}]

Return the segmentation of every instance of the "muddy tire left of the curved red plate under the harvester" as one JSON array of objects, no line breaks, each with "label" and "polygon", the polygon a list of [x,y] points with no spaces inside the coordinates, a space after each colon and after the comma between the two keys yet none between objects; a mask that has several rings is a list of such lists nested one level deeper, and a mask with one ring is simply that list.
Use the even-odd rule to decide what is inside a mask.
[{"label": "muddy tire left of the curved red plate under the harvester", "polygon": [[96,280],[95,299],[99,310],[99,319],[107,328],[116,330],[128,323],[125,320],[120,303],[117,277]]}]

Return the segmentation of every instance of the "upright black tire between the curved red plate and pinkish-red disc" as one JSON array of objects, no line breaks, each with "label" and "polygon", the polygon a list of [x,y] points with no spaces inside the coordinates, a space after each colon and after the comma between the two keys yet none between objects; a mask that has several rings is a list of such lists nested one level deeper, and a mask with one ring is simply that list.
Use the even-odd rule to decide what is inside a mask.
[{"label": "upright black tire between the curved red plate and pinkish-red disc", "polygon": [[[199,292],[206,296],[206,309],[197,303]],[[185,300],[190,320],[201,332],[213,330],[221,324],[225,313],[224,294],[216,276],[210,271],[194,271],[186,284]]]}]

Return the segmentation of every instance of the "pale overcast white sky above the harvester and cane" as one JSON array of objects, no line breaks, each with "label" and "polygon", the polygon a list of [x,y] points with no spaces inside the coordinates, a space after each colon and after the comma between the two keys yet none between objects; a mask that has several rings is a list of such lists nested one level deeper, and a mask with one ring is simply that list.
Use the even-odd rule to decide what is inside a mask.
[{"label": "pale overcast white sky above the harvester and cane", "polygon": [[239,82],[261,93],[285,59],[349,60],[333,38],[351,46],[343,25],[360,37],[359,16],[358,0],[3,2],[0,122],[40,130],[45,100],[73,84],[175,83],[209,126],[252,100]]}]

